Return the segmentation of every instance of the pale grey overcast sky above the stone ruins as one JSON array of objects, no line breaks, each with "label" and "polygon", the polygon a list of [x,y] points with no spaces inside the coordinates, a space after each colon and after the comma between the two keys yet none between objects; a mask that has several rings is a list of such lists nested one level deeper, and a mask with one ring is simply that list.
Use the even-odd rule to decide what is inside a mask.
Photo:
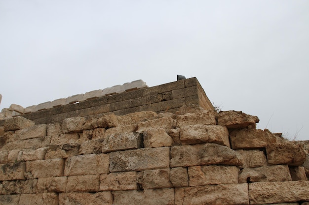
[{"label": "pale grey overcast sky above the stone ruins", "polygon": [[177,74],[309,140],[309,1],[0,0],[0,109]]}]

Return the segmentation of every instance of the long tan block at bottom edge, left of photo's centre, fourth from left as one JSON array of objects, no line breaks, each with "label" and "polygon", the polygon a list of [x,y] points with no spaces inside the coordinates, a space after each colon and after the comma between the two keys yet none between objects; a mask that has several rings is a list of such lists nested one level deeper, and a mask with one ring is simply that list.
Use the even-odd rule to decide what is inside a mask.
[{"label": "long tan block at bottom edge, left of photo's centre, fourth from left", "polygon": [[174,189],[114,191],[113,195],[113,205],[174,205]]}]

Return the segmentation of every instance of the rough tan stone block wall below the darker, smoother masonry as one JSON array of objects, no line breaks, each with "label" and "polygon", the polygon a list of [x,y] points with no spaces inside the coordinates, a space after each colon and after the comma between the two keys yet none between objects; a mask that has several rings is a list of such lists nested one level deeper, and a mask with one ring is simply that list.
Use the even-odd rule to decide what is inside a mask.
[{"label": "rough tan stone block wall below the darker, smoother masonry", "polygon": [[309,141],[185,104],[0,126],[1,205],[308,205]]}]

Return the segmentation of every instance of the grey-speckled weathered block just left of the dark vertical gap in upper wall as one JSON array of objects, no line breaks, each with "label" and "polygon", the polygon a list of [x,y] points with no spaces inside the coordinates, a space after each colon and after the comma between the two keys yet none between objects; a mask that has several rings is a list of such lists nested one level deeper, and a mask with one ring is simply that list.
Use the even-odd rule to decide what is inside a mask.
[{"label": "grey-speckled weathered block just left of the dark vertical gap in upper wall", "polygon": [[137,132],[111,134],[105,137],[102,152],[137,149],[142,147],[142,135]]}]

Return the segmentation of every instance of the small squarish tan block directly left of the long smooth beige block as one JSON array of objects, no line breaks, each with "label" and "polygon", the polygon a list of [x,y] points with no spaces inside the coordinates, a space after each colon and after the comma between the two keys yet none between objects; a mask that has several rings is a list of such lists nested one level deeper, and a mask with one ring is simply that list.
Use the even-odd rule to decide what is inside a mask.
[{"label": "small squarish tan block directly left of the long smooth beige block", "polygon": [[169,179],[173,187],[189,186],[188,171],[184,167],[172,168],[169,172]]}]

